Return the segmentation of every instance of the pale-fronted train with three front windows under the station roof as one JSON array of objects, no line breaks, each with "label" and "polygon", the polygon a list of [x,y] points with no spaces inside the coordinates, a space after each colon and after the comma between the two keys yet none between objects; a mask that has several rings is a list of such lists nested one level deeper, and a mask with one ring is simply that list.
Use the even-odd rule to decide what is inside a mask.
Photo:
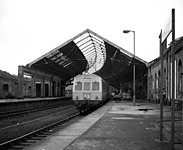
[{"label": "pale-fronted train with three front windows under the station roof", "polygon": [[82,113],[99,106],[110,98],[108,84],[95,74],[83,74],[74,78],[73,101]]}]

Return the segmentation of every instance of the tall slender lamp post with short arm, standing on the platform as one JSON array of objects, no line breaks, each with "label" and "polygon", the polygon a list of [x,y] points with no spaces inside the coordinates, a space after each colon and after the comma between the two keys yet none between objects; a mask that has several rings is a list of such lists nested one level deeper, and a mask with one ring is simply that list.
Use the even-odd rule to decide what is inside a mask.
[{"label": "tall slender lamp post with short arm, standing on the platform", "polygon": [[129,33],[129,32],[133,32],[133,54],[134,54],[134,60],[133,60],[133,106],[135,106],[135,31],[123,30],[123,33]]}]

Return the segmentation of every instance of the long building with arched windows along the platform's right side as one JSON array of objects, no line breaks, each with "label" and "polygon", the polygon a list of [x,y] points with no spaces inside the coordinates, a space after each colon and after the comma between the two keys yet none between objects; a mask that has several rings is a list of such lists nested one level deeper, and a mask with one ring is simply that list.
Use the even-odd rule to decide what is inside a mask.
[{"label": "long building with arched windows along the platform's right side", "polygon": [[[160,85],[163,84],[164,102],[170,104],[172,98],[172,53],[171,43],[163,54],[163,83],[161,83],[160,57],[148,65],[147,98],[153,101],[160,100]],[[175,41],[175,100],[183,100],[183,37]]]}]

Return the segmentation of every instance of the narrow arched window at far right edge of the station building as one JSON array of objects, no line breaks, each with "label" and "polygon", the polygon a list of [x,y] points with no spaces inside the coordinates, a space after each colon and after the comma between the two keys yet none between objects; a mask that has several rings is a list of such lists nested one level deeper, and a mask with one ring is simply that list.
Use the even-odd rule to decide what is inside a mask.
[{"label": "narrow arched window at far right edge of the station building", "polygon": [[183,91],[183,71],[182,71],[182,61],[179,60],[178,63],[178,91]]}]

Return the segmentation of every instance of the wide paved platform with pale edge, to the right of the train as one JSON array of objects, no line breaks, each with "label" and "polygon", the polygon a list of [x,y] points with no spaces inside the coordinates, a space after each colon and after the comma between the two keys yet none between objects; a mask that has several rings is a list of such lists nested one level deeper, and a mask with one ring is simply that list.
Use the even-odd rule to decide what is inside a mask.
[{"label": "wide paved platform with pale edge, to the right of the train", "polygon": [[[165,109],[168,117],[168,108]],[[34,144],[34,150],[170,150],[159,141],[158,104],[110,101],[105,106]],[[182,145],[175,145],[181,150]]]}]

